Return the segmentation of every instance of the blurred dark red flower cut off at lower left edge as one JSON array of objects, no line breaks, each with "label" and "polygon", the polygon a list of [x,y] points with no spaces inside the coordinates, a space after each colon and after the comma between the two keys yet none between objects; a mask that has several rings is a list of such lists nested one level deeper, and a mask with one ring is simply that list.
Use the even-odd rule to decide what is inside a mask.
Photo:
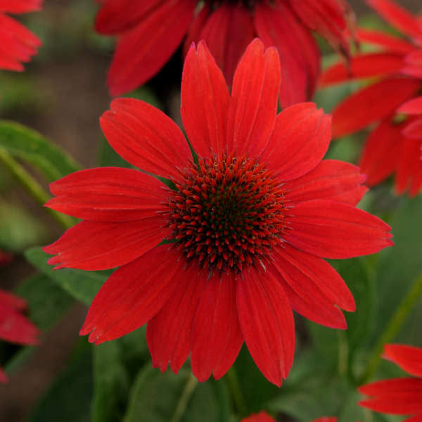
[{"label": "blurred dark red flower cut off at lower left edge", "polygon": [[[18,345],[37,345],[39,331],[23,315],[25,300],[0,289],[0,339]],[[6,383],[6,373],[0,368],[0,383]]]}]

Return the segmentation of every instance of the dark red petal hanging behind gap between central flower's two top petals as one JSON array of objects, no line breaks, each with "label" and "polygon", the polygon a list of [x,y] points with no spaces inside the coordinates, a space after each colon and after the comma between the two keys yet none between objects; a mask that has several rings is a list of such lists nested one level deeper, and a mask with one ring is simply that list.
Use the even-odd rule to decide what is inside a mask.
[{"label": "dark red petal hanging behind gap between central flower's two top petals", "polygon": [[212,57],[231,85],[236,66],[255,35],[252,15],[243,4],[221,4],[210,15],[200,39],[210,49]]}]

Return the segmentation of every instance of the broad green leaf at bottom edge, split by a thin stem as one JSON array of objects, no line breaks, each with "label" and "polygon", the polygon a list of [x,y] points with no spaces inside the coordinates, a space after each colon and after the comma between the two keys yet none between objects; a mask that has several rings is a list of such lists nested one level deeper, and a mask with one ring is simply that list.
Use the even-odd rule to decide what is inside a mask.
[{"label": "broad green leaf at bottom edge, split by a thin stem", "polygon": [[[229,420],[227,392],[222,381],[192,383],[189,371],[181,370],[177,375],[167,371],[160,373],[151,364],[139,371],[132,388],[124,422],[170,422],[186,386],[195,388],[188,397],[186,409],[179,422],[226,422]],[[195,382],[195,381],[193,381]]]}]

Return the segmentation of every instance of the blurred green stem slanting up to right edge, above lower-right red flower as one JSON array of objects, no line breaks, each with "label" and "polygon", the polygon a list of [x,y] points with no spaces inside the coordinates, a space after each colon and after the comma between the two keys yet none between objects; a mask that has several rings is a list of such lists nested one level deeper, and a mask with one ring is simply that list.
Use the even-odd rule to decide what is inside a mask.
[{"label": "blurred green stem slanting up to right edge, above lower-right red flower", "polygon": [[414,305],[416,305],[418,302],[421,294],[422,273],[419,274],[418,278],[411,285],[409,291],[406,293],[402,299],[402,302],[400,302],[399,306],[395,310],[395,313],[390,318],[390,321],[388,321],[385,330],[381,334],[380,338],[378,338],[378,342],[376,343],[371,353],[369,363],[366,366],[362,378],[359,380],[359,385],[368,382],[369,379],[373,376],[376,369],[378,368],[378,364],[380,363],[381,353],[383,352],[384,345],[386,343],[390,343],[390,341],[395,338],[400,328],[402,328],[404,321],[407,319],[407,316],[414,308]]}]

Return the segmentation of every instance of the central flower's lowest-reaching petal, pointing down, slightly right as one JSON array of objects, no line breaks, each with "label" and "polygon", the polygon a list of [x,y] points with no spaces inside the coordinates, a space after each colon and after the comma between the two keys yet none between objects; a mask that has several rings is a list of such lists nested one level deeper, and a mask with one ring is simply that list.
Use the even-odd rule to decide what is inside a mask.
[{"label": "central flower's lowest-reaching petal, pointing down, slightly right", "polygon": [[293,364],[295,324],[288,298],[271,273],[245,269],[238,278],[237,304],[242,333],[265,378],[281,385]]}]

